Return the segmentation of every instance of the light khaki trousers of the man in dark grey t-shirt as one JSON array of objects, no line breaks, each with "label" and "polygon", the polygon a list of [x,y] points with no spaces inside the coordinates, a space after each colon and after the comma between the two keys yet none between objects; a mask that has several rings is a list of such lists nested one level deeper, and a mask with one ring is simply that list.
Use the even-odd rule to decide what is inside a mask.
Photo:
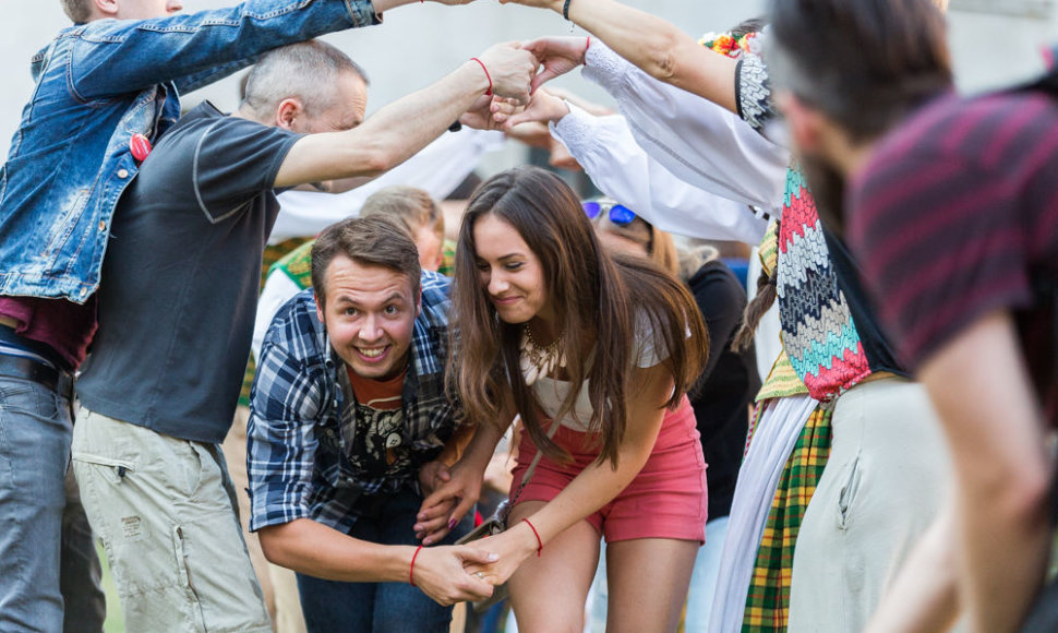
[{"label": "light khaki trousers of the man in dark grey t-shirt", "polygon": [[218,446],[82,408],[73,467],[130,633],[270,633]]}]

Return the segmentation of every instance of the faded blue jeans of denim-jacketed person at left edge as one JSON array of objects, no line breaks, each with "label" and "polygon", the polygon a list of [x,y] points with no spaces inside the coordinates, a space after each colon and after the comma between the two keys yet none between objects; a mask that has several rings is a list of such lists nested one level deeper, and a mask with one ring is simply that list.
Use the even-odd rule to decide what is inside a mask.
[{"label": "faded blue jeans of denim-jacketed person at left edge", "polygon": [[99,560],[69,468],[72,428],[64,396],[35,382],[0,375],[4,633],[103,631],[106,604]]}]

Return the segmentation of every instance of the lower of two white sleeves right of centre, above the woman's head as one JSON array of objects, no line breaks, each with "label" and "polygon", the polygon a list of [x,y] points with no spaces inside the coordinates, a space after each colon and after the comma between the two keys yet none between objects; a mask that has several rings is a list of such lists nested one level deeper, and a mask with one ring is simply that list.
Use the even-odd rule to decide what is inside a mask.
[{"label": "lower of two white sleeves right of centre, above the woman's head", "polygon": [[676,178],[636,144],[622,116],[593,117],[569,104],[551,133],[601,191],[656,227],[702,239],[756,244],[768,222],[745,203]]}]

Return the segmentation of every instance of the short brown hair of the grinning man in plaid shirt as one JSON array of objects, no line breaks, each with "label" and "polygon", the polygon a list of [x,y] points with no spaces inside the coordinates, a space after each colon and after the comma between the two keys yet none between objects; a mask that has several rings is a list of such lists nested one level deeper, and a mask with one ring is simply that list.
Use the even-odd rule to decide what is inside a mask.
[{"label": "short brown hair of the grinning man in plaid shirt", "polygon": [[419,296],[422,275],[419,249],[408,231],[395,220],[381,215],[350,217],[323,229],[312,244],[312,287],[321,306],[327,299],[324,284],[327,267],[339,254],[358,264],[385,266],[408,275],[412,296]]}]

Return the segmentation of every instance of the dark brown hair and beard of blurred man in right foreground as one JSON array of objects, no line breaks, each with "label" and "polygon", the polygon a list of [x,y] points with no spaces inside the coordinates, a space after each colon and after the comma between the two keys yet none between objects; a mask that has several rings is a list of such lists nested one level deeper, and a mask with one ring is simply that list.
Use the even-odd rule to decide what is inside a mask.
[{"label": "dark brown hair and beard of blurred man in right foreground", "polygon": [[[840,126],[853,143],[877,139],[952,88],[937,0],[772,0],[772,82]],[[844,178],[803,156],[825,224],[841,230]]]}]

